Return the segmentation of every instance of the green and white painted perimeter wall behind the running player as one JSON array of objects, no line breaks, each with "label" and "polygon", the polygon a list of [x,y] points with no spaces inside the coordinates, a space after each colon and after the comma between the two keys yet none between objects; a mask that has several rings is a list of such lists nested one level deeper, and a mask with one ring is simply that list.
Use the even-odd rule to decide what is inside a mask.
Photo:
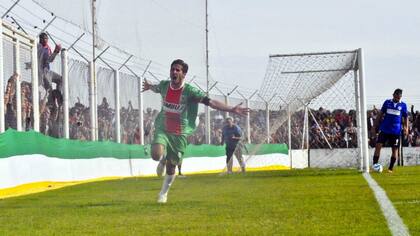
[{"label": "green and white painted perimeter wall behind the running player", "polygon": [[[248,168],[288,168],[284,144],[247,145]],[[41,181],[80,181],[102,177],[154,175],[157,162],[150,146],[56,139],[29,131],[0,134],[0,189]],[[220,171],[225,168],[223,146],[189,145],[184,173]],[[235,159],[234,166],[238,166]]]}]

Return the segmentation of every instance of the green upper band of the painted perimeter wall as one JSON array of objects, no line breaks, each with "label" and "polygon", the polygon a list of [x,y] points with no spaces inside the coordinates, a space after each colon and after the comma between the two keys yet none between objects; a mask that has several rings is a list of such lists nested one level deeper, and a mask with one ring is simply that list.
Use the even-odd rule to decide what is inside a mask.
[{"label": "green upper band of the painted perimeter wall", "polygon": [[[257,150],[254,155],[288,153],[286,144],[247,144],[246,146],[252,153]],[[145,149],[147,152],[145,152]],[[150,158],[147,153],[150,153],[150,145],[57,139],[35,131],[18,132],[13,129],[8,129],[0,134],[0,158],[42,154],[62,159],[90,159],[97,157],[147,159]],[[190,144],[184,158],[220,157],[224,155],[224,146]]]}]

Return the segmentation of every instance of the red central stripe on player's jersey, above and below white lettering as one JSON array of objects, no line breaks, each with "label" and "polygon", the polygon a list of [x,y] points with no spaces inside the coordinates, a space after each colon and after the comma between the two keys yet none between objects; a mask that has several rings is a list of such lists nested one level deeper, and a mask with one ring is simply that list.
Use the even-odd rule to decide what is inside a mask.
[{"label": "red central stripe on player's jersey, above and below white lettering", "polygon": [[[172,104],[180,104],[183,90],[183,88],[174,90],[169,86],[165,101]],[[165,126],[167,132],[181,134],[181,114],[169,111],[165,112]]]}]

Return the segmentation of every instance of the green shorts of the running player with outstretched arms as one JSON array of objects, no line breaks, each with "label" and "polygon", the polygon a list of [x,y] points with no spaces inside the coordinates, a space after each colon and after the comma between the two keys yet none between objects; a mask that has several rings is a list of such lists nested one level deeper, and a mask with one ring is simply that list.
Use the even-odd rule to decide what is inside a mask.
[{"label": "green shorts of the running player with outstretched arms", "polygon": [[156,130],[152,144],[162,144],[165,147],[166,159],[172,164],[178,165],[182,162],[182,156],[187,149],[187,136],[168,134],[163,131]]}]

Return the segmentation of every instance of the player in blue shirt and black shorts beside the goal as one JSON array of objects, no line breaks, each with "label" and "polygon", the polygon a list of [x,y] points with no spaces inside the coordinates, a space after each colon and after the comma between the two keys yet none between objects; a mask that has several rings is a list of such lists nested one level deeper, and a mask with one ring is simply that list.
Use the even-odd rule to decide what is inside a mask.
[{"label": "player in blue shirt and black shorts beside the goal", "polygon": [[403,121],[404,135],[408,134],[407,105],[401,101],[401,97],[402,90],[396,89],[393,99],[388,99],[384,102],[376,119],[376,127],[379,125],[379,135],[373,155],[373,164],[378,163],[382,146],[389,143],[392,147],[391,161],[388,168],[389,173],[392,173],[398,156],[401,120]]}]

